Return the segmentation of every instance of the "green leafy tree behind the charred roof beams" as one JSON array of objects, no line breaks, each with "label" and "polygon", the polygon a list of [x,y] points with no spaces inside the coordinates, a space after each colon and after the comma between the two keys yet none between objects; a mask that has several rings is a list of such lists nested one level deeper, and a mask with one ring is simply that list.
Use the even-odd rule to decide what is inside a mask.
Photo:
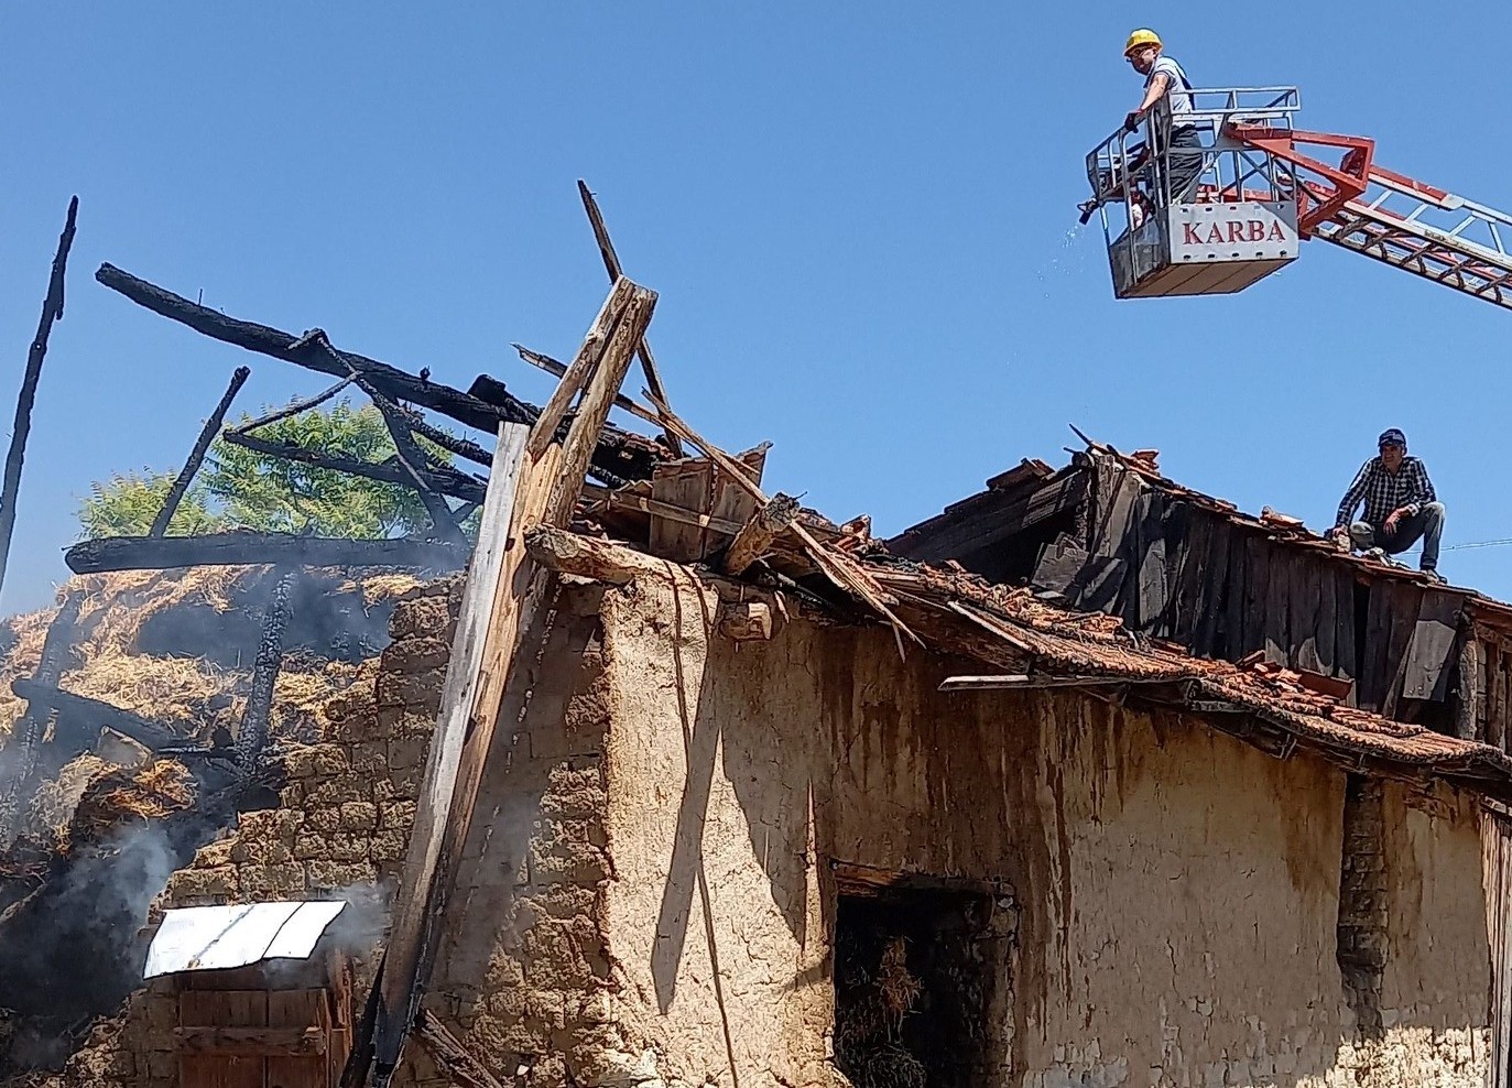
[{"label": "green leafy tree behind the charred roof beams", "polygon": [[[354,408],[346,400],[277,420],[256,434],[268,443],[290,443],[369,464],[396,456],[383,414],[372,405]],[[435,462],[451,464],[448,452],[423,438],[417,441]],[[129,474],[92,485],[79,509],[85,536],[145,535],[172,479],[174,473]],[[373,539],[428,526],[425,506],[411,488],[286,461],[218,438],[169,532],[256,529]]]}]

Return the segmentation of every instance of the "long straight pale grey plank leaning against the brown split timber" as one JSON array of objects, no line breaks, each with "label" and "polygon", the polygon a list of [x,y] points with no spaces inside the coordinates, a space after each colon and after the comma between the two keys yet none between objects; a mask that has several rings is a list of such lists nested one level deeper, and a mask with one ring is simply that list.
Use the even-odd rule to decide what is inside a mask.
[{"label": "long straight pale grey plank leaning against the brown split timber", "polygon": [[[519,555],[519,544],[511,538],[511,526],[528,438],[528,428],[520,423],[505,423],[499,428],[499,441],[494,446],[488,494],[484,497],[484,512],[478,524],[478,546],[463,585],[461,612],[452,636],[435,731],[426,753],[425,777],[405,851],[390,940],[375,982],[381,985],[389,1002],[390,1022],[408,1012],[420,960],[426,907],[431,904],[431,886],[446,843],[463,748],[482,683],[490,623],[502,580],[516,565],[507,567],[505,556],[511,549],[516,556]],[[399,1005],[404,1008],[398,1008]]]}]

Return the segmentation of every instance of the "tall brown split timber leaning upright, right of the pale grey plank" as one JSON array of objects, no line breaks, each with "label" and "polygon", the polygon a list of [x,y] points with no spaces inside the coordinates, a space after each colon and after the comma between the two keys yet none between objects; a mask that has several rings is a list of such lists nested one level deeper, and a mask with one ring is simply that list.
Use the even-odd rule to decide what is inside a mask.
[{"label": "tall brown split timber leaning upright, right of the pale grey plank", "polygon": [[[635,345],[646,334],[656,305],[655,292],[627,280],[621,283],[627,287],[621,289],[617,284],[611,292],[624,295],[621,317],[599,355],[597,367],[584,388],[565,440],[559,446],[549,441],[555,435],[556,425],[546,413],[526,438],[526,459],[510,511],[510,529],[493,609],[487,621],[479,680],[464,715],[464,721],[470,719],[470,731],[451,774],[442,774],[438,768],[432,783],[431,804],[448,807],[438,855],[426,864],[425,858],[416,857],[417,848],[411,842],[411,851],[405,858],[407,876],[399,882],[401,902],[395,908],[396,923],[389,935],[384,973],[375,984],[381,987],[373,1032],[373,1083],[380,1088],[389,1085],[404,1055],[405,1038],[417,1009],[417,996],[425,985],[423,967],[431,960],[423,955],[425,919],[445,910],[446,886],[445,881],[437,882],[437,870],[448,878],[454,878],[460,870],[503,692],[511,682],[516,682],[514,663],[520,641],[531,630],[547,598],[547,573],[525,555],[525,530],[541,523],[558,527],[570,523],[588,461],[609,416],[609,405],[624,381],[635,355]],[[538,443],[541,435],[547,437],[544,446]],[[540,447],[540,453],[531,455],[532,447]],[[432,740],[431,750],[435,751],[437,746]],[[426,778],[431,780],[429,757]],[[452,783],[449,790],[446,778]],[[411,860],[416,861],[414,869],[408,869]],[[404,919],[402,926],[398,919]],[[432,943],[434,940],[435,934]]]}]

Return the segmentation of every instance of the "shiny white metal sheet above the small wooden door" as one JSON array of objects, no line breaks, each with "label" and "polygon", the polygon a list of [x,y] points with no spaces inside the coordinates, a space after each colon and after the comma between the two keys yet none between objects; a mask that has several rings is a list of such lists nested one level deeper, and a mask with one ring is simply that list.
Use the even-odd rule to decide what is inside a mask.
[{"label": "shiny white metal sheet above the small wooden door", "polygon": [[265,902],[171,910],[147,950],[142,978],[304,960],[345,902]]}]

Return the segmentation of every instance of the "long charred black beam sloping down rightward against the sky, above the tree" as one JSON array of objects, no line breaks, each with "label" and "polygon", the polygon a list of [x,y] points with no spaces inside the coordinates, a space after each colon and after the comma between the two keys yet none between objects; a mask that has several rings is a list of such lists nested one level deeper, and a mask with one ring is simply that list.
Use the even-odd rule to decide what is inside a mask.
[{"label": "long charred black beam sloping down rightward against the sky, above the tree", "polygon": [[[349,376],[348,369],[333,360],[331,355],[310,337],[295,337],[283,329],[269,328],[268,325],[256,325],[253,322],[237,320],[236,317],[227,317],[219,310],[197,305],[186,298],[180,298],[178,295],[163,290],[156,284],[136,278],[130,272],[122,272],[113,264],[101,264],[100,270],[95,272],[95,280],[103,283],[110,290],[125,295],[125,298],[132,299],[138,305],[162,314],[169,320],[175,320],[180,325],[187,325],[195,332],[213,337],[215,340],[245,348],[246,351],[253,351],[260,355],[269,355],[272,358],[283,360],[284,363],[293,363],[295,366],[305,367],[307,370],[318,370],[336,378]],[[535,419],[535,410],[523,400],[516,400],[514,397],[510,397],[510,403],[503,408],[497,408],[479,400],[478,397],[467,396],[461,390],[455,390],[451,385],[420,379],[416,375],[405,373],[398,367],[367,358],[366,355],[342,352],[342,357],[354,361],[364,378],[369,378],[380,388],[392,393],[401,400],[425,405],[426,408],[432,408],[443,416],[448,416],[460,423],[466,423],[467,426],[478,428],[479,431],[488,431],[491,434],[499,426],[500,420],[529,423]]]}]

